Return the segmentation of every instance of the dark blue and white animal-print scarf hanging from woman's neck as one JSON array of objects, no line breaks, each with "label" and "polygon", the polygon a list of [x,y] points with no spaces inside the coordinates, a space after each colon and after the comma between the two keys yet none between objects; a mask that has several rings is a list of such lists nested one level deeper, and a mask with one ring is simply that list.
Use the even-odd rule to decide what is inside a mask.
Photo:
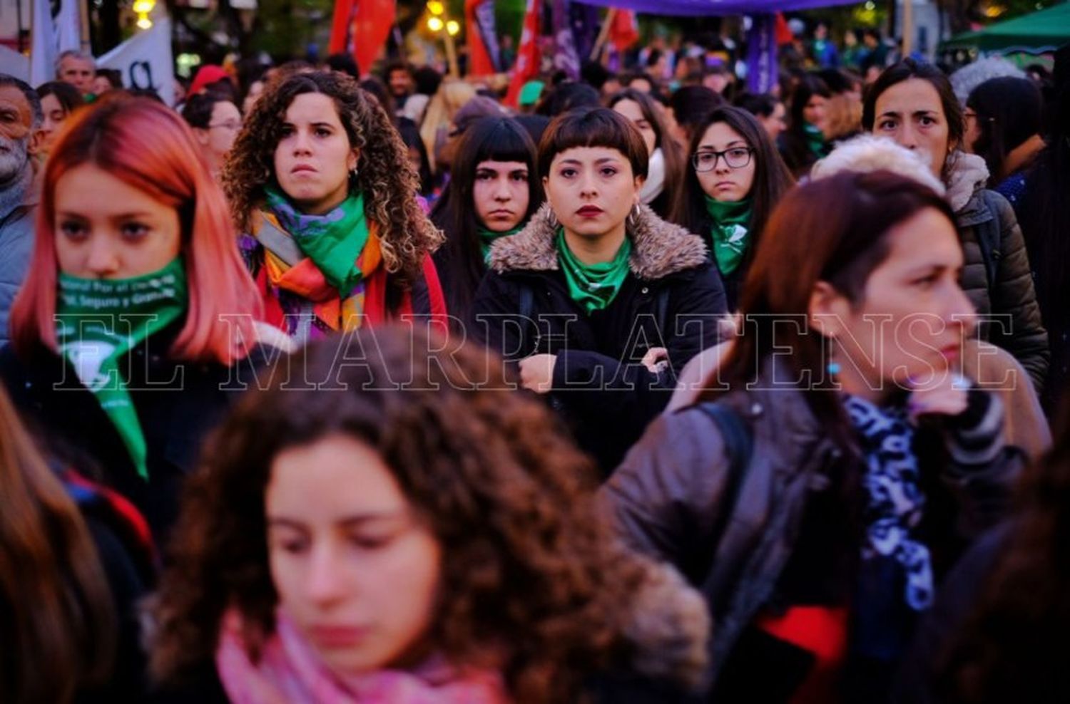
[{"label": "dark blue and white animal-print scarf hanging from woman's neck", "polygon": [[863,513],[867,546],[898,562],[906,574],[904,598],[915,611],[932,606],[934,586],[929,548],[915,535],[926,497],[914,454],[914,427],[905,408],[878,408],[858,396],[845,396],[844,407],[866,456],[863,486],[869,496]]}]

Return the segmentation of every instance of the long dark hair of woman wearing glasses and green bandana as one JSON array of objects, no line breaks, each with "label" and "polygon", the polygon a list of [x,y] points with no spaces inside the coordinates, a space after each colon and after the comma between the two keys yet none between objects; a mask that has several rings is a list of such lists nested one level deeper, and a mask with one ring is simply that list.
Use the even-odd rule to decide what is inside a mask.
[{"label": "long dark hair of woman wearing glasses and green bandana", "polygon": [[709,113],[709,116],[702,121],[691,138],[687,158],[688,168],[684,175],[684,187],[676,193],[676,202],[673,204],[672,217],[670,220],[678,225],[687,228],[703,239],[709,237],[709,230],[713,228],[713,220],[705,206],[705,191],[699,183],[699,176],[690,163],[691,157],[699,151],[702,137],[712,125],[724,123],[739,134],[746,140],[747,145],[754,150],[754,182],[750,187],[748,197],[751,199],[750,222],[747,229],[751,233],[752,241],[748,250],[744,253],[743,266],[749,266],[754,257],[754,251],[761,241],[762,231],[773,209],[786,193],[795,179],[780,158],[777,147],[769,139],[768,132],[758,122],[751,113],[743,108],[724,106]]}]

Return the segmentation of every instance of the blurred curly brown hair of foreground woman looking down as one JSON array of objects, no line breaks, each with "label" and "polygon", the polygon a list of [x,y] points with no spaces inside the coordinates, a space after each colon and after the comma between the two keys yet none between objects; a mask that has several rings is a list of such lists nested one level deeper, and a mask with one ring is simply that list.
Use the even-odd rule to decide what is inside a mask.
[{"label": "blurred curly brown hair of foreground woman looking down", "polygon": [[[500,359],[472,345],[432,351],[447,347],[409,327],[362,329],[309,345],[242,398],[187,486],[155,609],[157,677],[181,683],[210,663],[228,607],[257,655],[277,600],[272,460],[336,434],[379,451],[443,547],[437,652],[499,669],[521,704],[577,701],[586,676],[635,656],[625,631],[648,565],[597,517],[590,459],[542,404],[511,391]],[[339,365],[343,351],[361,361]],[[287,370],[301,370],[289,385]],[[302,391],[299,377],[331,388]]]}]

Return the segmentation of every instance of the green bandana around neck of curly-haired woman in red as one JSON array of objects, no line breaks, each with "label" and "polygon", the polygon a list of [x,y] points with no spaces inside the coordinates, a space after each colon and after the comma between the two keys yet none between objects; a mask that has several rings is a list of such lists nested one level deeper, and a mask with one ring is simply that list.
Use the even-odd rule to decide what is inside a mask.
[{"label": "green bandana around neck of curly-haired woman in red", "polygon": [[268,207],[278,218],[297,247],[342,298],[361,282],[356,260],[368,244],[368,220],[364,217],[364,193],[350,193],[326,215],[305,215],[273,186],[265,186]]}]

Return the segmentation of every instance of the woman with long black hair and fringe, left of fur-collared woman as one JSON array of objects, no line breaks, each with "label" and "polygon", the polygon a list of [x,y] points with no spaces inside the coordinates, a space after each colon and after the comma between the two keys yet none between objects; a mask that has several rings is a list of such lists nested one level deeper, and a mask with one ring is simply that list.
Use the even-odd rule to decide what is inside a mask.
[{"label": "woman with long black hair and fringe, left of fur-collared woman", "polygon": [[509,118],[484,118],[464,130],[450,174],[431,221],[446,235],[433,259],[456,324],[468,319],[490,246],[528,224],[542,203],[542,186],[535,144]]}]

